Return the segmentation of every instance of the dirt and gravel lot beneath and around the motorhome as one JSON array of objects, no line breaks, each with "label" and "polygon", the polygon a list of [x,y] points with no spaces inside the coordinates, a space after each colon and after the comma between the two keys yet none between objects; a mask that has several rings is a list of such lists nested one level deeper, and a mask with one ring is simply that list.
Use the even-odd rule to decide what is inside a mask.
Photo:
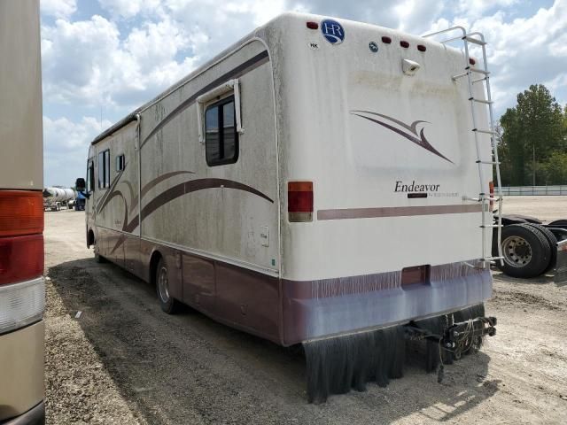
[{"label": "dirt and gravel lot beneath and around the motorhome", "polygon": [[[508,213],[567,217],[565,197],[507,205]],[[149,285],[95,263],[83,223],[83,213],[46,213],[48,423],[567,421],[567,286],[549,276],[495,275],[486,309],[498,335],[447,367],[442,384],[408,367],[385,389],[369,385],[314,406],[303,359],[189,309],[162,313]]]}]

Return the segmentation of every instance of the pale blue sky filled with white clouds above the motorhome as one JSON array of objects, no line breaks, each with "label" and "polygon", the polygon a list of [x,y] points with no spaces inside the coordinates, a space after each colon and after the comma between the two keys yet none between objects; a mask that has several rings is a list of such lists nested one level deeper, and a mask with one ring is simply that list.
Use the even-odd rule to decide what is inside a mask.
[{"label": "pale blue sky filled with white clouds above the motorhome", "polygon": [[90,141],[281,12],[488,42],[494,110],[545,84],[567,103],[567,0],[40,0],[45,185],[85,174]]}]

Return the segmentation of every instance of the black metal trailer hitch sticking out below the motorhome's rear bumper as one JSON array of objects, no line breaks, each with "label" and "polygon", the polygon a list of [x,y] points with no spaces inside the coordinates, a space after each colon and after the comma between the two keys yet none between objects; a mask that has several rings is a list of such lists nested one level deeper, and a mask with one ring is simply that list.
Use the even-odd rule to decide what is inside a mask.
[{"label": "black metal trailer hitch sticking out below the motorhome's rear bumper", "polygon": [[431,341],[439,346],[438,383],[443,382],[445,364],[461,359],[463,354],[477,351],[485,336],[496,335],[495,317],[477,317],[467,321],[454,321],[453,314],[445,318],[442,332],[420,327],[415,321],[405,325],[406,338],[412,341]]}]

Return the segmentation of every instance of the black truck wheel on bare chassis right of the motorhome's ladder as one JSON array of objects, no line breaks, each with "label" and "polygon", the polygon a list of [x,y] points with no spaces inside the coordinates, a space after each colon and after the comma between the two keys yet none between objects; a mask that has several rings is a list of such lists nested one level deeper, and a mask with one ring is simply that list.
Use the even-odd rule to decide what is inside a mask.
[{"label": "black truck wheel on bare chassis right of the motorhome's ladder", "polygon": [[546,237],[532,226],[511,224],[502,228],[504,265],[496,267],[512,277],[535,277],[549,265],[551,247]]}]

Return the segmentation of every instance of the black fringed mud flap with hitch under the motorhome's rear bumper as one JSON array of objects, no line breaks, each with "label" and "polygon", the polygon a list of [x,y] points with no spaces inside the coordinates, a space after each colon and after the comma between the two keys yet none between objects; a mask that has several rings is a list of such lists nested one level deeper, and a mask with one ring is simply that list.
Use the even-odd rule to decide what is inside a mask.
[{"label": "black fringed mud flap with hitch under the motorhome's rear bumper", "polygon": [[364,391],[370,382],[385,387],[400,378],[408,340],[426,342],[427,371],[474,352],[485,335],[496,333],[496,319],[484,315],[484,305],[473,305],[407,325],[306,341],[308,401],[323,403],[331,394]]}]

